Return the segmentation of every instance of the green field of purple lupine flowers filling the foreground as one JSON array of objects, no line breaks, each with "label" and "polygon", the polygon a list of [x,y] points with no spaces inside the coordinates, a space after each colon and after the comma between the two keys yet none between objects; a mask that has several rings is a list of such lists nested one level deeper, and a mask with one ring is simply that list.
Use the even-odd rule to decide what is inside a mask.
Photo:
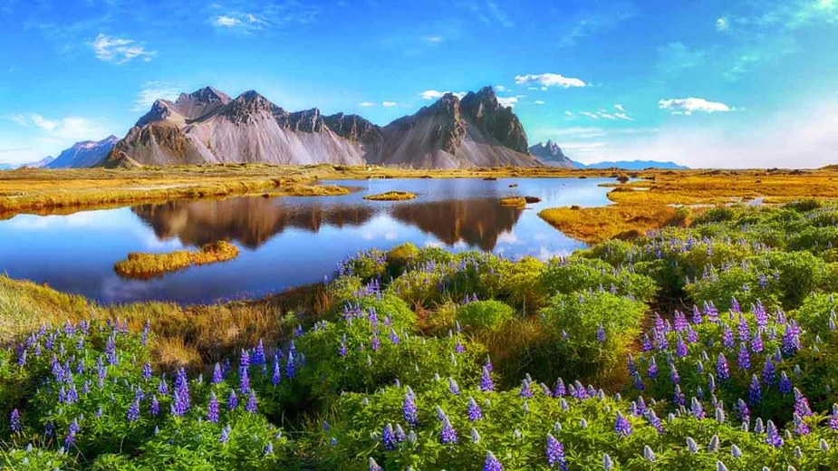
[{"label": "green field of purple lupine flowers filling the foreground", "polygon": [[547,263],[365,252],[203,368],[163,366],[162,318],[43,325],[0,350],[0,468],[838,469],[836,218],[718,207]]}]

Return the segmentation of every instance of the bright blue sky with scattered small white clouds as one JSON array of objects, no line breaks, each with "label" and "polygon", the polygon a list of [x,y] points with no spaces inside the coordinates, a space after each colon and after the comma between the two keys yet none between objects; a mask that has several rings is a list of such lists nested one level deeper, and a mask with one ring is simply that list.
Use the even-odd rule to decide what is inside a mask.
[{"label": "bright blue sky with scattered small white clouds", "polygon": [[496,86],[573,159],[818,167],[838,0],[0,0],[0,161],[125,134],[213,85],[386,124]]}]

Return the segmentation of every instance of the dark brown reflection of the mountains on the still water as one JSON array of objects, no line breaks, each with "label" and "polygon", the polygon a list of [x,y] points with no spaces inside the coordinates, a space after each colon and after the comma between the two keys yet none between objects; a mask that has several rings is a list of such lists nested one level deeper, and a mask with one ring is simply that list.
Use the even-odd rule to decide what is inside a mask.
[{"label": "dark brown reflection of the mountains on the still water", "polygon": [[[159,239],[177,237],[183,245],[200,246],[219,240],[257,249],[287,228],[317,233],[322,226],[362,226],[378,212],[371,206],[294,204],[288,198],[236,197],[217,201],[170,201],[132,207]],[[523,209],[503,207],[496,199],[401,203],[393,217],[436,236],[447,245],[464,242],[491,251],[498,236],[515,226]]]}]

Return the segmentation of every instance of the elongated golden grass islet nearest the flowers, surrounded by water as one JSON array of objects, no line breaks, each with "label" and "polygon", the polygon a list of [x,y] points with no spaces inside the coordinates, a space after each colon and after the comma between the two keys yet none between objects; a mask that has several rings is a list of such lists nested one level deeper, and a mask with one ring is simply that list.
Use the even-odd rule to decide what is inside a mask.
[{"label": "elongated golden grass islet nearest the flowers, surrounded by water", "polygon": [[133,252],[113,265],[114,271],[126,278],[149,278],[177,272],[192,265],[216,264],[238,256],[238,247],[225,240],[201,246],[200,250],[177,250],[168,254]]}]

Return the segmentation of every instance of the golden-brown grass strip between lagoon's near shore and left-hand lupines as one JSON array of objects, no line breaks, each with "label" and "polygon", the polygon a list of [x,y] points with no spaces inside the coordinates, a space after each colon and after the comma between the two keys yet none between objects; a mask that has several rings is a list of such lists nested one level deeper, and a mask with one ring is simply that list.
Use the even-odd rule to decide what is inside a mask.
[{"label": "golden-brown grass strip between lagoon's near shore and left-hand lupines", "polygon": [[101,305],[43,284],[0,275],[0,343],[37,330],[42,323],[62,325],[91,316],[119,318],[130,330],[140,332],[150,320],[155,361],[197,368],[251,347],[260,339],[271,344],[283,341],[298,322],[311,323],[315,312],[326,312],[331,303],[323,285],[315,284],[259,300],[225,304]]}]

